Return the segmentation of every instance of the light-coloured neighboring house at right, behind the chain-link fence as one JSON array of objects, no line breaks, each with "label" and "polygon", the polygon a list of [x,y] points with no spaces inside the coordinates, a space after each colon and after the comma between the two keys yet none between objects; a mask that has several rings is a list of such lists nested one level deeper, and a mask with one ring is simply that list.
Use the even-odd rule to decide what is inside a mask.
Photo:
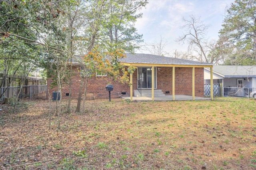
[{"label": "light-coloured neighboring house at right, behind the chain-link fence", "polygon": [[[204,83],[210,83],[210,70],[204,68]],[[223,95],[246,97],[256,90],[256,66],[214,65],[213,83],[222,84]]]}]

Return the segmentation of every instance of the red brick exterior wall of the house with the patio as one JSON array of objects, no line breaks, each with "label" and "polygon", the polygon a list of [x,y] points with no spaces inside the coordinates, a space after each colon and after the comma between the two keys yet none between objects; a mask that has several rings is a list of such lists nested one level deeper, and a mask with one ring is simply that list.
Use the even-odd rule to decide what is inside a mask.
[{"label": "red brick exterior wall of the house with the patio", "polygon": [[[159,69],[159,70],[158,70]],[[164,93],[169,91],[172,95],[172,67],[158,67],[157,69],[157,89],[161,89]],[[73,66],[72,77],[72,98],[78,97],[80,88],[80,66]],[[133,73],[132,85],[133,95],[134,90],[137,89],[137,70]],[[53,91],[57,88],[50,89],[52,80],[47,80],[48,91],[52,96]],[[85,84],[85,83],[84,83]],[[122,92],[130,96],[130,86],[128,84],[121,84],[114,81],[111,77],[107,76],[93,76],[88,79],[87,93],[93,93],[95,98],[108,98],[109,92],[106,91],[106,85],[112,84],[114,86],[111,91],[111,97],[119,97]],[[83,89],[84,91],[84,89]],[[68,83],[63,83],[62,97],[65,99],[68,92]],[[176,95],[192,95],[192,68],[189,67],[176,67],[175,68],[175,94]],[[204,68],[195,68],[195,95],[198,97],[204,96]]]}]

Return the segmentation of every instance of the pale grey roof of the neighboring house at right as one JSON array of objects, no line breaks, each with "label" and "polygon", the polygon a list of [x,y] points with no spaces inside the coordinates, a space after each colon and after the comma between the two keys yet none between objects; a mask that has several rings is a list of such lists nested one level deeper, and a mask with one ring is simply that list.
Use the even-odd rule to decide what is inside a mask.
[{"label": "pale grey roof of the neighboring house at right", "polygon": [[214,65],[213,71],[224,75],[224,77],[256,77],[256,65]]}]

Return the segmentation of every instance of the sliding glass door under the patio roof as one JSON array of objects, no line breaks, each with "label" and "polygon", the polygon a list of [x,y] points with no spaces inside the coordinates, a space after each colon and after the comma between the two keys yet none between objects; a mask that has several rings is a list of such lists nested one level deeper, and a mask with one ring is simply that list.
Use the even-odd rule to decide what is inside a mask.
[{"label": "sliding glass door under the patio roof", "polygon": [[[138,67],[138,89],[152,88],[152,67]],[[154,67],[154,88],[156,88],[156,67]]]}]

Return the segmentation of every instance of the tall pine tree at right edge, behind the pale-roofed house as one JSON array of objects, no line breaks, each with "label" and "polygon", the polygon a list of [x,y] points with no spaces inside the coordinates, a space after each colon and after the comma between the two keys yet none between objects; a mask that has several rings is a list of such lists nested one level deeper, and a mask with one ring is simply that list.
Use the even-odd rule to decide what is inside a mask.
[{"label": "tall pine tree at right edge, behind the pale-roofed house", "polygon": [[256,64],[256,1],[236,0],[226,10],[220,38],[224,40],[226,64]]}]

